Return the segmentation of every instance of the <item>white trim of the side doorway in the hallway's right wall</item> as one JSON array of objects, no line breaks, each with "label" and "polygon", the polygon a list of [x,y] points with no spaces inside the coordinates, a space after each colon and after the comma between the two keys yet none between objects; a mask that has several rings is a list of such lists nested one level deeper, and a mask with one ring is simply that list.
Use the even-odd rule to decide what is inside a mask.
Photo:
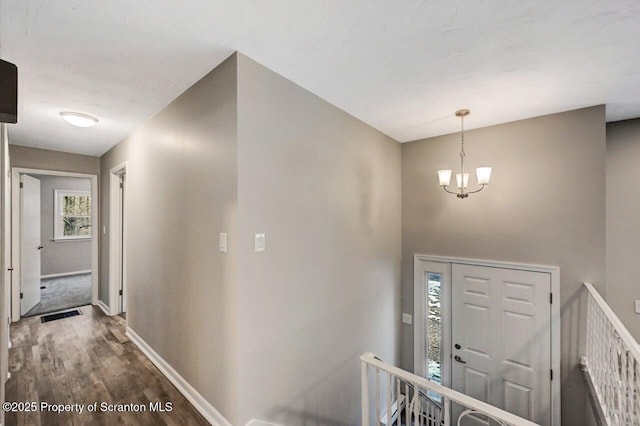
[{"label": "white trim of the side doorway in the hallway's right wall", "polygon": [[[127,292],[127,244],[126,244],[126,215],[123,214],[123,235],[120,235],[120,177],[122,172],[129,171],[128,162],[120,163],[109,169],[109,315],[118,315],[122,312],[118,290],[122,277],[123,293]],[[127,205],[127,193],[125,190],[124,205]],[[120,240],[124,238],[124,243]],[[122,253],[120,253],[122,247]],[[120,257],[122,256],[122,257]],[[122,264],[118,259],[122,259]],[[120,270],[122,268],[122,272]],[[126,307],[125,307],[126,308]]]}]

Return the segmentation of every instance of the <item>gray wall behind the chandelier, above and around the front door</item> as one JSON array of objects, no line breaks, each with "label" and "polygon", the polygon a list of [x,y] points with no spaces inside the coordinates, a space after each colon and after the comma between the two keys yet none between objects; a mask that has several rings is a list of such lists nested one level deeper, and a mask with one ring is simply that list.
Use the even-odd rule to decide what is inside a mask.
[{"label": "gray wall behind the chandelier, above and around the front door", "polygon": [[[581,284],[605,282],[604,114],[597,106],[467,132],[470,170],[489,164],[493,176],[465,200],[444,193],[436,174],[458,167],[459,134],[402,145],[404,312],[413,312],[414,253],[559,266],[563,425],[585,422]],[[403,325],[407,369],[412,333]]]}]

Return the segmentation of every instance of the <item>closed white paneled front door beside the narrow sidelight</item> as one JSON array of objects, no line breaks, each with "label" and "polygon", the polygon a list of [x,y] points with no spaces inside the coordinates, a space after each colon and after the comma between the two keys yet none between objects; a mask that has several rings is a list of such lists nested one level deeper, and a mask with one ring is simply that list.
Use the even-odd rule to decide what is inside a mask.
[{"label": "closed white paneled front door beside the narrow sidelight", "polygon": [[453,264],[452,388],[550,425],[550,293],[548,273]]}]

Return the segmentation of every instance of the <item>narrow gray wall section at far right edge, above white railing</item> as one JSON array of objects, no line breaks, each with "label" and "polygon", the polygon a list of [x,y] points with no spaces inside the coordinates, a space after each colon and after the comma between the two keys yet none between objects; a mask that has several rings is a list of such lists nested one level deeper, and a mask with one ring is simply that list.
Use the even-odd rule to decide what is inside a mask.
[{"label": "narrow gray wall section at far right edge, above white railing", "polygon": [[607,302],[640,341],[640,120],[607,124]]}]

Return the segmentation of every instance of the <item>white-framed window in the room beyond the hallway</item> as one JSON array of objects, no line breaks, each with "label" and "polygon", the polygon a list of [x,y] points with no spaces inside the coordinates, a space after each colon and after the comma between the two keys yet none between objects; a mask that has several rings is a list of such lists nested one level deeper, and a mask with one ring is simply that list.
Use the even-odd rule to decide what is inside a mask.
[{"label": "white-framed window in the room beyond the hallway", "polygon": [[55,190],[54,238],[91,238],[91,193]]}]

